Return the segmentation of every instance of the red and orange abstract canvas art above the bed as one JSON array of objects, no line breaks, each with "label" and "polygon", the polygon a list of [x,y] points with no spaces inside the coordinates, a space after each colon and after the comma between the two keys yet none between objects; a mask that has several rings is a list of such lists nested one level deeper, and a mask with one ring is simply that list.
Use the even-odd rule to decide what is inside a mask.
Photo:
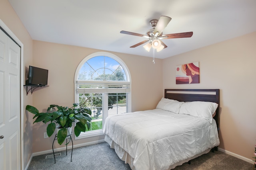
[{"label": "red and orange abstract canvas art above the bed", "polygon": [[176,66],[176,84],[199,83],[199,62]]}]

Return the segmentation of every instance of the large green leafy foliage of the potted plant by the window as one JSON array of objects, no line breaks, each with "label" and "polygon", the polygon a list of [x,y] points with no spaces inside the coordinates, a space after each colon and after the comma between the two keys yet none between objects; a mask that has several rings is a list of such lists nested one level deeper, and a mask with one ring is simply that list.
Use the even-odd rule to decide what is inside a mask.
[{"label": "large green leafy foliage of the potted plant by the window", "polygon": [[49,137],[54,133],[57,127],[56,124],[59,125],[60,130],[57,133],[57,139],[58,143],[61,145],[66,139],[67,135],[71,135],[71,132],[68,132],[67,128],[72,127],[73,122],[76,122],[74,127],[76,137],[78,137],[81,132],[86,131],[86,126],[88,130],[90,129],[90,121],[92,120],[90,115],[92,115],[92,111],[83,107],[76,108],[77,106],[78,104],[73,104],[73,106],[69,108],[58,105],[50,105],[46,113],[39,113],[36,107],[27,105],[26,110],[35,114],[33,117],[33,119],[36,118],[34,123],[42,121],[46,124],[50,121],[46,129]]}]

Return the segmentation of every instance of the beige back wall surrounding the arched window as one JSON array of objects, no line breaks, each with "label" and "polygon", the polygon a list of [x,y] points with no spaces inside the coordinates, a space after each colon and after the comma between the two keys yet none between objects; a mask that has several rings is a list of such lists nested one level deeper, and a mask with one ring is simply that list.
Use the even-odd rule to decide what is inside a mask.
[{"label": "beige back wall surrounding the arched window", "polygon": [[[87,55],[99,50],[43,41],[33,41],[33,65],[48,69],[48,87],[33,92],[33,106],[45,111],[50,104],[72,106],[74,103],[74,74],[78,64]],[[132,111],[153,109],[162,97],[162,61],[152,58],[110,52],[122,59],[131,74]],[[33,125],[33,152],[50,150],[52,141],[43,138],[46,125]],[[74,135],[73,135],[74,139]],[[79,139],[74,145],[104,139],[104,136]],[[56,143],[56,148],[60,147]],[[62,146],[63,147],[63,146]]]}]

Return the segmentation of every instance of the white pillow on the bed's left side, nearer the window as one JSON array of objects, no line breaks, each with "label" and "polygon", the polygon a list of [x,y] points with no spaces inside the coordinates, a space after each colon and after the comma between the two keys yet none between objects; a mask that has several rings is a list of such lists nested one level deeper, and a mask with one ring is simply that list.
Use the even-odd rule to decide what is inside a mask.
[{"label": "white pillow on the bed's left side, nearer the window", "polygon": [[172,99],[166,99],[166,98],[162,98],[158,105],[156,106],[157,109],[162,109],[162,110],[166,110],[166,111],[172,111],[174,113],[179,113],[180,110],[180,106],[183,104],[184,102],[179,102],[177,100],[172,100]]}]

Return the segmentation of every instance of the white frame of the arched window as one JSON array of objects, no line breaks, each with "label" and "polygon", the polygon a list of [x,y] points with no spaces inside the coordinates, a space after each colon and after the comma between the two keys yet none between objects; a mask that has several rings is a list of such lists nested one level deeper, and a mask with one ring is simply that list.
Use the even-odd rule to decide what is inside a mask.
[{"label": "white frame of the arched window", "polygon": [[[127,78],[127,81],[125,82],[122,82],[122,81],[94,81],[94,80],[78,80],[78,74],[79,74],[79,71],[80,69],[82,68],[82,66],[84,65],[84,63],[86,63],[86,61],[92,59],[93,57],[97,57],[97,56],[105,56],[105,57],[109,57],[111,59],[114,59],[115,61],[117,61],[121,66],[122,68],[124,69],[124,72],[126,74],[126,78]],[[120,84],[129,84],[130,86],[130,92],[126,92],[126,111],[127,112],[131,112],[132,110],[132,102],[131,102],[131,99],[132,99],[132,89],[131,89],[131,86],[132,86],[132,83],[131,83],[131,78],[130,78],[130,71],[128,70],[128,67],[126,66],[126,64],[124,63],[124,61],[122,61],[118,56],[112,54],[112,53],[108,53],[108,52],[96,52],[96,53],[92,53],[88,56],[86,56],[77,66],[76,68],[76,72],[75,72],[75,75],[74,75],[74,102],[75,103],[79,103],[79,93],[78,93],[78,90],[77,90],[77,86],[79,84],[79,82],[84,82],[84,83],[92,83],[92,84],[106,84],[106,83],[110,83],[110,84],[117,84],[117,85],[120,85]],[[102,93],[100,90],[97,90],[95,89],[94,90],[95,92],[98,91],[98,93]],[[87,93],[91,93],[90,90],[87,92]],[[104,102],[104,101],[107,101],[108,100],[108,93],[112,93],[112,92],[104,92],[102,93],[102,111],[104,109],[104,114],[102,114],[102,127],[104,126],[104,123],[105,123],[105,119],[106,117],[108,116],[108,102]],[[119,93],[119,92],[114,92],[114,93]],[[78,137],[75,136],[75,140],[77,139],[84,139],[84,138],[88,138],[88,137],[95,137],[95,136],[99,136],[99,135],[104,135],[103,133],[103,130],[97,130],[97,131],[86,131],[85,133],[81,133]]]}]

